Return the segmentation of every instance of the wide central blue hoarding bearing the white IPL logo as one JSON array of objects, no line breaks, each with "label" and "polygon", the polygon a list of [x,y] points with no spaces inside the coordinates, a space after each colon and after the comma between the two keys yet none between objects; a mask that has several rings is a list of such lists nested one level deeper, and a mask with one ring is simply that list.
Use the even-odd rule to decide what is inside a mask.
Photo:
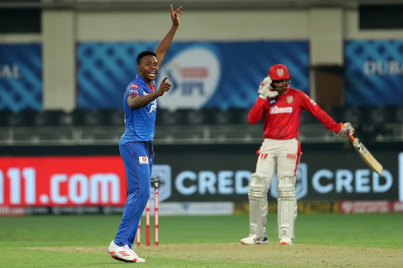
[{"label": "wide central blue hoarding bearing the white IPL logo", "polygon": [[[136,77],[137,54],[156,42],[81,42],[77,48],[78,108],[121,109]],[[257,88],[276,63],[285,64],[292,86],[309,93],[307,41],[174,42],[157,76],[172,87],[159,108],[250,108]]]}]

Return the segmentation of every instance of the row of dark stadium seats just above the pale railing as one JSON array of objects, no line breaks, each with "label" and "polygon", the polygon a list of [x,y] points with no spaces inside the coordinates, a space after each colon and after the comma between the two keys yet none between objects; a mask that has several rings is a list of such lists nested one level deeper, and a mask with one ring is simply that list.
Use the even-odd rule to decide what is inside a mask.
[{"label": "row of dark stadium seats just above the pale railing", "polygon": [[[322,107],[337,122],[363,123],[403,123],[403,107]],[[179,109],[170,111],[159,109],[158,125],[222,125],[247,124],[249,109]],[[320,123],[310,113],[303,110],[301,123]],[[47,111],[0,111],[0,126],[120,126],[124,124],[124,112],[120,109],[81,110],[63,112]]]}]

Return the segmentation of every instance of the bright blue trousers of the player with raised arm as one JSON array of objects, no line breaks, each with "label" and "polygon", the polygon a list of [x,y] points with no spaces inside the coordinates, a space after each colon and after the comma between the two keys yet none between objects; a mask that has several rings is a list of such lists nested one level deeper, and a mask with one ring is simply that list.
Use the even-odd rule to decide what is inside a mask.
[{"label": "bright blue trousers of the player with raised arm", "polygon": [[127,199],[123,216],[114,242],[118,246],[135,241],[140,218],[150,198],[150,176],[153,169],[153,144],[151,142],[130,142],[119,145],[127,181]]}]

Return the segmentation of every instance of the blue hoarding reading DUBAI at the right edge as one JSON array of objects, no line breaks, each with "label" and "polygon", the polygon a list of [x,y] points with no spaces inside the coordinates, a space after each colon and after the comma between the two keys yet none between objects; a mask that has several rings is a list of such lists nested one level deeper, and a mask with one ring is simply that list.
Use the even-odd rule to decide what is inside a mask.
[{"label": "blue hoarding reading DUBAI at the right edge", "polygon": [[403,105],[403,40],[345,42],[348,106]]}]

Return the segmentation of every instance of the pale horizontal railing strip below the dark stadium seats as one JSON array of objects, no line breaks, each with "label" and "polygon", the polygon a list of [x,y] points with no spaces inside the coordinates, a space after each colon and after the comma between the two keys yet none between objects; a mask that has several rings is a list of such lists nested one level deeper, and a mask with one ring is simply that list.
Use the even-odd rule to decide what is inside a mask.
[{"label": "pale horizontal railing strip below the dark stadium seats", "polygon": [[[385,124],[383,134],[371,134],[377,142],[403,141],[403,124]],[[113,145],[123,127],[2,127],[0,145]],[[156,144],[260,143],[262,125],[177,125],[156,126]],[[364,138],[364,137],[362,137]],[[368,138],[368,137],[366,137]],[[321,124],[303,124],[298,139],[304,143],[342,142]]]}]

